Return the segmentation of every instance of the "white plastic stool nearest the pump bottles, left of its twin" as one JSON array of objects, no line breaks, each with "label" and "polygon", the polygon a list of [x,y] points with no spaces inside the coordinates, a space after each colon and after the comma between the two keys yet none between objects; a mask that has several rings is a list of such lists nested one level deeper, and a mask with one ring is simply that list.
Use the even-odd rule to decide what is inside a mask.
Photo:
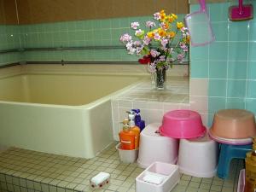
[{"label": "white plastic stool nearest the pump bottles, left of its twin", "polygon": [[154,161],[176,164],[178,140],[170,137],[161,137],[157,133],[159,127],[160,123],[150,124],[141,132],[138,166],[146,168]]}]

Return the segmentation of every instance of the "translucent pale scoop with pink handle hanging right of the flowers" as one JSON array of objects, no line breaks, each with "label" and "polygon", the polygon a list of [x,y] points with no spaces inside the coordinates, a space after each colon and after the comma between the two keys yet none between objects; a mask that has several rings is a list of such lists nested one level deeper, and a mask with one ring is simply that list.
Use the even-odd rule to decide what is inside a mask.
[{"label": "translucent pale scoop with pink handle hanging right of the flowers", "polygon": [[200,10],[185,16],[192,46],[204,46],[212,43],[215,37],[206,9],[206,1],[199,0]]}]

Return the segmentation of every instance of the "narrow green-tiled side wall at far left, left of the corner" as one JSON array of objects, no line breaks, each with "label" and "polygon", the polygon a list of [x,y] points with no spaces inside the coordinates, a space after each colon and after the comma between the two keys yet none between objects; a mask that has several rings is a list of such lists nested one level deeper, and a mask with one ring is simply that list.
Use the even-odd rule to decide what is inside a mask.
[{"label": "narrow green-tiled side wall at far left, left of the corner", "polygon": [[[13,25],[0,25],[0,51],[20,48],[20,28]],[[0,66],[20,61],[19,53],[0,54]]]}]

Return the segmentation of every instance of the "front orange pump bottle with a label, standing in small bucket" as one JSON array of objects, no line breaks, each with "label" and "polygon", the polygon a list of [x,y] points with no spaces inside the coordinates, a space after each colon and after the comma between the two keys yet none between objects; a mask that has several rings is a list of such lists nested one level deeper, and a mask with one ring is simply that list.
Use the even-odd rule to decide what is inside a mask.
[{"label": "front orange pump bottle with a label, standing in small bucket", "polygon": [[135,149],[135,133],[129,128],[129,119],[124,119],[123,124],[123,131],[119,132],[120,148],[133,150]]}]

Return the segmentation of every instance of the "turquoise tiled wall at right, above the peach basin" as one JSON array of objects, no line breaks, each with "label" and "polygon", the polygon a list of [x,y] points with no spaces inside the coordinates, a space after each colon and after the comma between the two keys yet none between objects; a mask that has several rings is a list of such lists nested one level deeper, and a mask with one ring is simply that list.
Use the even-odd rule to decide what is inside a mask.
[{"label": "turquoise tiled wall at right, above the peach basin", "polygon": [[[256,2],[252,3],[255,9]],[[191,81],[196,82],[192,84],[208,86],[207,92],[193,91],[195,97],[208,102],[208,125],[219,109],[243,108],[256,113],[256,20],[230,21],[232,4],[208,4],[216,41],[191,48]],[[191,6],[191,12],[195,10],[198,5]]]}]

